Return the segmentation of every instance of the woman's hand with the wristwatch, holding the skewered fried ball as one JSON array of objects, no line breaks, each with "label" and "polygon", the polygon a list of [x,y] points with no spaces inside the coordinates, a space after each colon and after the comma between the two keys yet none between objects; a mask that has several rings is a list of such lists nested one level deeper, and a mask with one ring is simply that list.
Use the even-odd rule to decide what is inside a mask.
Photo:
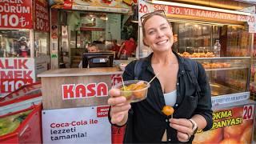
[{"label": "woman's hand with the wristwatch, holding the skewered fried ball", "polygon": [[193,134],[193,124],[186,118],[170,118],[170,127],[177,130],[177,138],[180,142],[188,142]]}]

